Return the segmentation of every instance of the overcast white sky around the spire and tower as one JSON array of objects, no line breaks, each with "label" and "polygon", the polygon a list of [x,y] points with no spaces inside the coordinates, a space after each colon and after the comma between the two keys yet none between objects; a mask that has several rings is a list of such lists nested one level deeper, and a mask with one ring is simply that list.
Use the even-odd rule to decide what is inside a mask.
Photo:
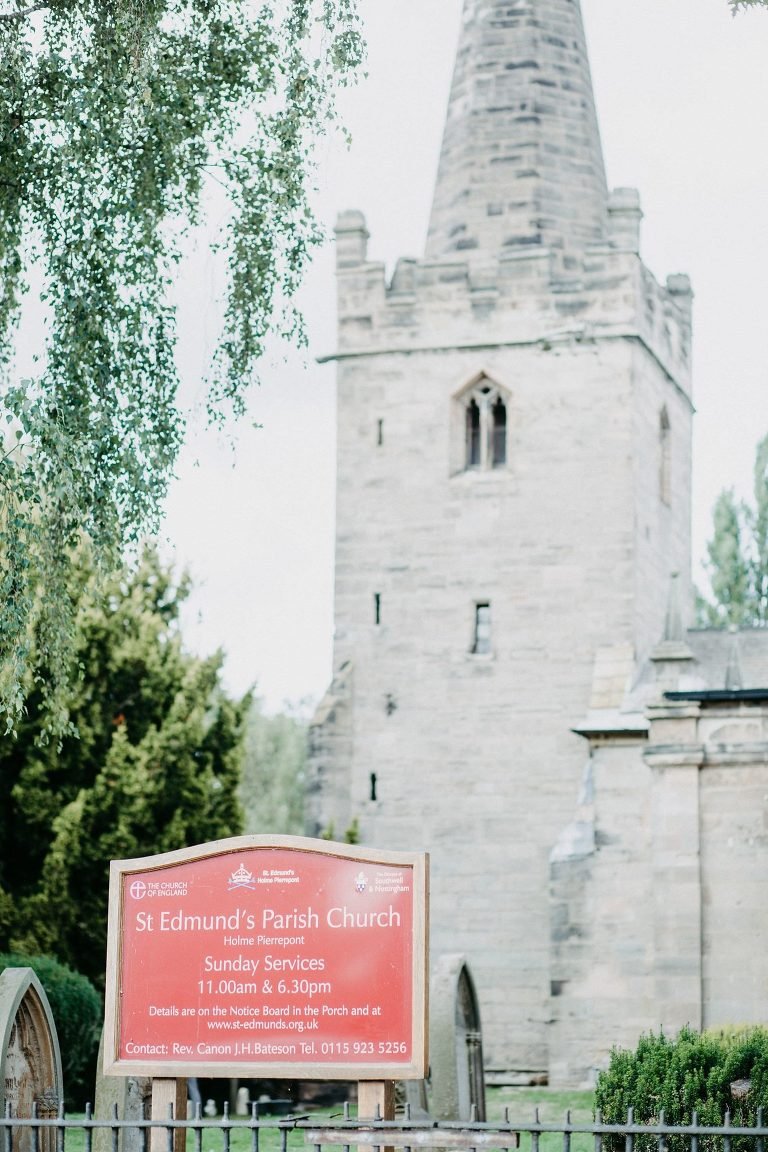
[{"label": "overcast white sky around the spire and tower", "polygon": [[[360,209],[370,253],[423,251],[461,0],[362,0],[367,78],[343,101],[352,134],[320,152],[330,228]],[[581,0],[610,187],[640,189],[642,256],[687,272],[694,301],[694,552],[717,493],[747,493],[768,433],[768,9],[727,0]],[[215,326],[201,253],[189,275],[182,366],[193,379]],[[165,533],[196,581],[184,635],[223,647],[234,691],[269,708],[317,699],[330,676],[335,394],[313,357],[335,339],[333,251],[304,295],[309,356],[265,371],[236,450],[192,438]]]}]

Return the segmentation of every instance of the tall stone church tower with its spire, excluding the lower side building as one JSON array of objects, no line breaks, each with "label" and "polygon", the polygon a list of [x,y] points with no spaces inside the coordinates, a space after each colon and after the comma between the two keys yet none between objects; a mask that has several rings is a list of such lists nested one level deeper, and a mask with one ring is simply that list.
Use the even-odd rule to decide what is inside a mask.
[{"label": "tall stone church tower with its spire, excluding the lower side building", "polygon": [[339,220],[335,674],[309,831],[426,849],[491,1071],[550,1067],[550,854],[690,599],[691,290],[608,194],[578,0],[465,0],[424,257]]}]

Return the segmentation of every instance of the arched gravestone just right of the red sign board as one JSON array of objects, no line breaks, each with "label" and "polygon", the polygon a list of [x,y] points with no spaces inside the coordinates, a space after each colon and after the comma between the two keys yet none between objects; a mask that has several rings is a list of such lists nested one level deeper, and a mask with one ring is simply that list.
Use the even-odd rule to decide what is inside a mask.
[{"label": "arched gravestone just right of the red sign board", "polygon": [[431,1108],[435,1120],[486,1119],[482,1032],[463,956],[440,956],[429,982]]}]

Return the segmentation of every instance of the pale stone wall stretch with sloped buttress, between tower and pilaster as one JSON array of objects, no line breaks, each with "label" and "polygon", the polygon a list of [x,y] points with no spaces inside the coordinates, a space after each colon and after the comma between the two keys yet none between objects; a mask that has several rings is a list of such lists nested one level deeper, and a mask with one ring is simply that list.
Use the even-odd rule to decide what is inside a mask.
[{"label": "pale stone wall stretch with sloped buttress, between tower and pilaster", "polygon": [[[564,829],[550,858],[549,1082],[591,1086],[614,1046],[654,1018],[651,774],[642,736],[593,750],[590,836]],[[572,827],[572,826],[571,826]]]}]

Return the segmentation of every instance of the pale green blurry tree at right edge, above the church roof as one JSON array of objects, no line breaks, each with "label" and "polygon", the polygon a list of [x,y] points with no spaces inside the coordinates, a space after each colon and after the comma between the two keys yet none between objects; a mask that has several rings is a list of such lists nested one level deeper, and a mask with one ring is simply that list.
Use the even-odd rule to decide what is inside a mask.
[{"label": "pale green blurry tree at right edge, above the church roof", "polygon": [[712,599],[699,596],[699,623],[709,627],[768,624],[768,437],[760,441],[753,472],[753,503],[721,492],[706,569]]}]

